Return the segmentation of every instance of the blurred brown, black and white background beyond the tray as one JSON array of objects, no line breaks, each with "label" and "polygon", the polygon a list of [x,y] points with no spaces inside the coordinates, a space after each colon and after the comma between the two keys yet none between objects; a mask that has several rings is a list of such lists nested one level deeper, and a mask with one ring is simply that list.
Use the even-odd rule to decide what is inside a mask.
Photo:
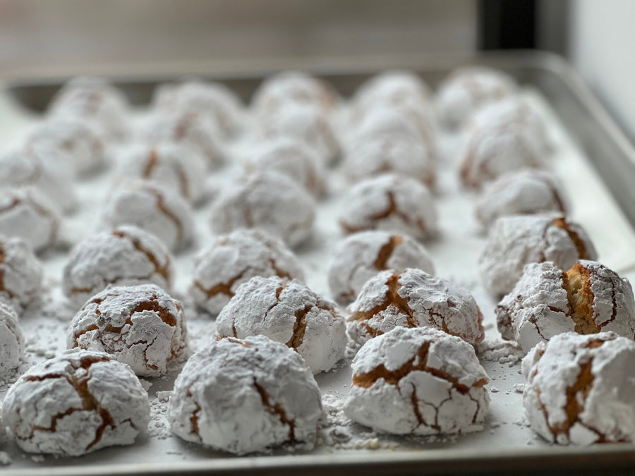
[{"label": "blurred brown, black and white background beyond the tray", "polygon": [[633,20],[632,0],[0,0],[0,74],[543,49],[567,57],[635,139]]}]

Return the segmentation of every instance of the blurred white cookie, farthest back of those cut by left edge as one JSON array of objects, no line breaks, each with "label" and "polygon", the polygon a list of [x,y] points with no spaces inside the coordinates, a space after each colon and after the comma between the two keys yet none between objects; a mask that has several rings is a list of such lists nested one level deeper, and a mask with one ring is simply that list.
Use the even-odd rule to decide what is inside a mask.
[{"label": "blurred white cookie, farthest back of those cut by left edge", "polygon": [[[43,157],[51,154],[56,158]],[[56,160],[61,160],[59,152],[44,153],[42,148],[6,152],[0,156],[0,188],[37,188],[63,212],[70,212],[77,205],[73,178],[56,166]]]}]

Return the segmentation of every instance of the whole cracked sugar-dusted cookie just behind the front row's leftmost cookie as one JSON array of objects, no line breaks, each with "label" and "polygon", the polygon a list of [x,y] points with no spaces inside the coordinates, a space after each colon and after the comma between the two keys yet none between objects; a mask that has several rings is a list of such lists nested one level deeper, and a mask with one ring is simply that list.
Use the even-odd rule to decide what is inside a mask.
[{"label": "whole cracked sugar-dusted cookie just behind the front row's leftmost cookie", "polygon": [[165,375],[187,350],[183,305],[155,284],[112,286],[73,317],[66,346],[112,355],[143,377]]}]

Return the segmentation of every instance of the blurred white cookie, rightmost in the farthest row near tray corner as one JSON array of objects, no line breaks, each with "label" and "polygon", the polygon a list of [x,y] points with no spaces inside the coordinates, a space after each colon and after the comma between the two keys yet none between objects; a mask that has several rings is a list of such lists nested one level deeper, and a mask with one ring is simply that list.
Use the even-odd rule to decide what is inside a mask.
[{"label": "blurred white cookie, rightmost in the farthest row near tray corner", "polygon": [[440,85],[435,98],[437,115],[447,128],[459,128],[479,107],[516,93],[511,76],[483,66],[453,71]]}]

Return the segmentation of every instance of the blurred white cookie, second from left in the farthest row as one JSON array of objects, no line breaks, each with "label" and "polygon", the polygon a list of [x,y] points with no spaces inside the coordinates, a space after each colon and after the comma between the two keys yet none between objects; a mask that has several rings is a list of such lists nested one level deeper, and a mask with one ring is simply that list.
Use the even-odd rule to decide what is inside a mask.
[{"label": "blurred white cookie, second from left in the farthest row", "polygon": [[241,99],[221,83],[193,80],[160,85],[152,98],[152,105],[159,113],[205,114],[214,121],[224,137],[238,133],[243,122]]}]

